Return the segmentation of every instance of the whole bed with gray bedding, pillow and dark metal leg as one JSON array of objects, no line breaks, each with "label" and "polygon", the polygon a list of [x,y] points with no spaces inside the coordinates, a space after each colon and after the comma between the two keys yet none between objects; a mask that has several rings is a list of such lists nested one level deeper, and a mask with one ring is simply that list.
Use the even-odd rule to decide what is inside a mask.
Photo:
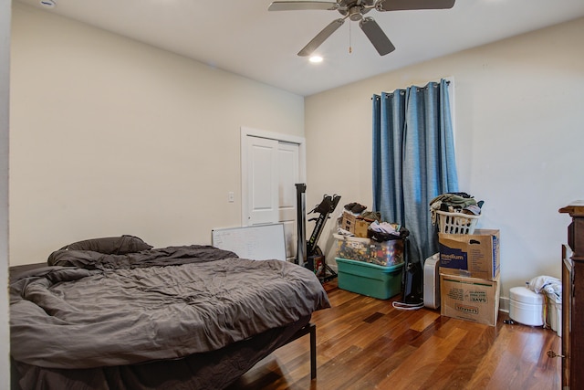
[{"label": "whole bed with gray bedding, pillow and dark metal leg", "polygon": [[315,376],[309,321],[330,306],[295,264],[132,236],[70,244],[10,278],[21,389],[220,389],[304,334]]}]

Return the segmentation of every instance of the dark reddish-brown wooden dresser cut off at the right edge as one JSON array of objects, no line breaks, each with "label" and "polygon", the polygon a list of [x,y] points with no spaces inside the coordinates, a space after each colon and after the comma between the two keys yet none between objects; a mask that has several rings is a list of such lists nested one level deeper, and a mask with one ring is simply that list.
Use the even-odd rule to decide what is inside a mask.
[{"label": "dark reddish-brown wooden dresser cut off at the right edge", "polygon": [[562,248],[562,388],[584,388],[584,201],[559,209],[572,217]]}]

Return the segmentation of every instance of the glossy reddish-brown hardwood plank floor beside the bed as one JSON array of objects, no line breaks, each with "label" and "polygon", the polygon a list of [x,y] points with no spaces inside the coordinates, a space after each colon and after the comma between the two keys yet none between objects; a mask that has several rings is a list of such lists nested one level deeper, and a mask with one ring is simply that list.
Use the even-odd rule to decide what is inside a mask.
[{"label": "glossy reddish-brown hardwood plank floor beside the bed", "polygon": [[233,389],[559,389],[560,338],[551,330],[399,311],[325,283],[331,309],[316,312],[318,375],[310,380],[309,340],[272,353]]}]

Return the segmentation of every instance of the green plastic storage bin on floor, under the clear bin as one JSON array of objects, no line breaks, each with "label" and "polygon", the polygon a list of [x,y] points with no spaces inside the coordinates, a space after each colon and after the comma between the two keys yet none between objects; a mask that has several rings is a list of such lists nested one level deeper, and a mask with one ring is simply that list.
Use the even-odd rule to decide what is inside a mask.
[{"label": "green plastic storage bin on floor, under the clear bin", "polygon": [[401,292],[403,263],[390,267],[336,258],[339,289],[387,300]]}]

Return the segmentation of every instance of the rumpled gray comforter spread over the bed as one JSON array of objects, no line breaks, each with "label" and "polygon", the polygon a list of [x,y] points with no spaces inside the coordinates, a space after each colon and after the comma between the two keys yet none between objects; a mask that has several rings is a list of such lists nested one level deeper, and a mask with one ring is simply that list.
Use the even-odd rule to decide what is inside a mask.
[{"label": "rumpled gray comforter spread over the bed", "polygon": [[329,307],[308,269],[212,247],[57,255],[56,266],[10,284],[16,361],[90,368],[180,358]]}]

